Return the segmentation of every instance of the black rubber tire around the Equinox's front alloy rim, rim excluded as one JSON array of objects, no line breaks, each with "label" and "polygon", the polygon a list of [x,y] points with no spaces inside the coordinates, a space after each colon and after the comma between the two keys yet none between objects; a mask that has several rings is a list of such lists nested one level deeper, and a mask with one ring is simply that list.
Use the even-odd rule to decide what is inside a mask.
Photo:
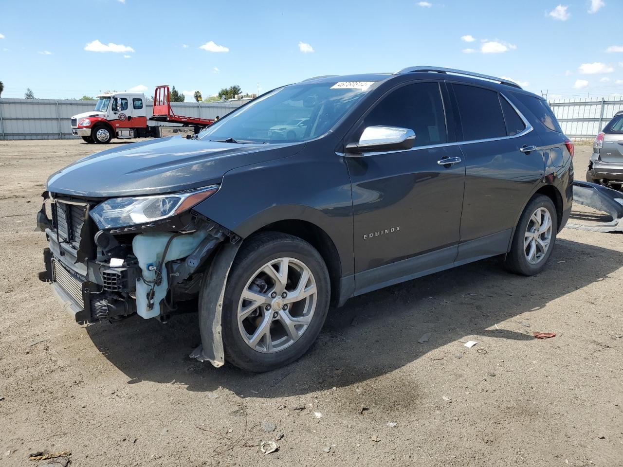
[{"label": "black rubber tire around the Equinox's front alloy rim, rim excluded", "polygon": [[[237,313],[240,296],[251,276],[272,259],[290,257],[304,263],[316,282],[316,308],[308,328],[289,347],[272,353],[255,350],[243,339]],[[224,295],[222,336],[225,361],[240,369],[265,372],[303,356],[318,337],[329,309],[331,285],[320,253],[301,238],[280,232],[262,232],[247,238],[232,264]]]}]

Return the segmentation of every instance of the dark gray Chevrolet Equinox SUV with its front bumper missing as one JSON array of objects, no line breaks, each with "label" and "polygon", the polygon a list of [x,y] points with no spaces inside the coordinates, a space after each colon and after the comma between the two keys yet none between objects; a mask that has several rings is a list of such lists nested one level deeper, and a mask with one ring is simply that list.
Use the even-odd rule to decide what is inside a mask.
[{"label": "dark gray Chevrolet Equinox SUV with its front bumper missing", "polygon": [[192,139],[50,176],[47,276],[82,323],[166,322],[198,298],[193,357],[274,369],[307,351],[331,304],[497,255],[541,271],[571,210],[573,148],[546,101],[504,79],[311,78]]}]

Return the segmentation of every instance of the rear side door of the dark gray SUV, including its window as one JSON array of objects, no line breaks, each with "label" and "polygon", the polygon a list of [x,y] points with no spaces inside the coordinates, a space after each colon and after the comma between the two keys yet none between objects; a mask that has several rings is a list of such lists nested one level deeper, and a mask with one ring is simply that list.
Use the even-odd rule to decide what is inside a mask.
[{"label": "rear side door of the dark gray SUV, including its window", "polygon": [[[457,262],[505,253],[515,223],[543,177],[541,140],[502,94],[453,83],[465,158],[465,196]],[[526,148],[533,147],[531,151]],[[522,151],[523,149],[523,151]]]}]

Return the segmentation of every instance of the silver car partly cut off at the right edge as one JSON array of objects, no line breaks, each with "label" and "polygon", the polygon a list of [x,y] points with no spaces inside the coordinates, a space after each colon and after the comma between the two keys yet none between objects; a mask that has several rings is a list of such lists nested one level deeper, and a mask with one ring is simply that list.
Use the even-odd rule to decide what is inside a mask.
[{"label": "silver car partly cut off at the right edge", "polygon": [[623,111],[597,134],[586,171],[586,181],[617,190],[623,187]]}]

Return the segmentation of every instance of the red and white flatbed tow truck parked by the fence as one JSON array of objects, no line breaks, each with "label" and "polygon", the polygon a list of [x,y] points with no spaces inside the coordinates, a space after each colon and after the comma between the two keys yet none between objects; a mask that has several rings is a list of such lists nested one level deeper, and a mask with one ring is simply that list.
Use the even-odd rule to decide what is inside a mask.
[{"label": "red and white flatbed tow truck parked by the fence", "polygon": [[[169,86],[157,86],[153,105],[141,92],[115,92],[98,96],[95,110],[72,116],[72,134],[90,144],[107,144],[113,138],[160,138],[174,133],[199,133],[214,123],[210,118],[176,115]],[[156,122],[174,123],[158,125]]]}]

